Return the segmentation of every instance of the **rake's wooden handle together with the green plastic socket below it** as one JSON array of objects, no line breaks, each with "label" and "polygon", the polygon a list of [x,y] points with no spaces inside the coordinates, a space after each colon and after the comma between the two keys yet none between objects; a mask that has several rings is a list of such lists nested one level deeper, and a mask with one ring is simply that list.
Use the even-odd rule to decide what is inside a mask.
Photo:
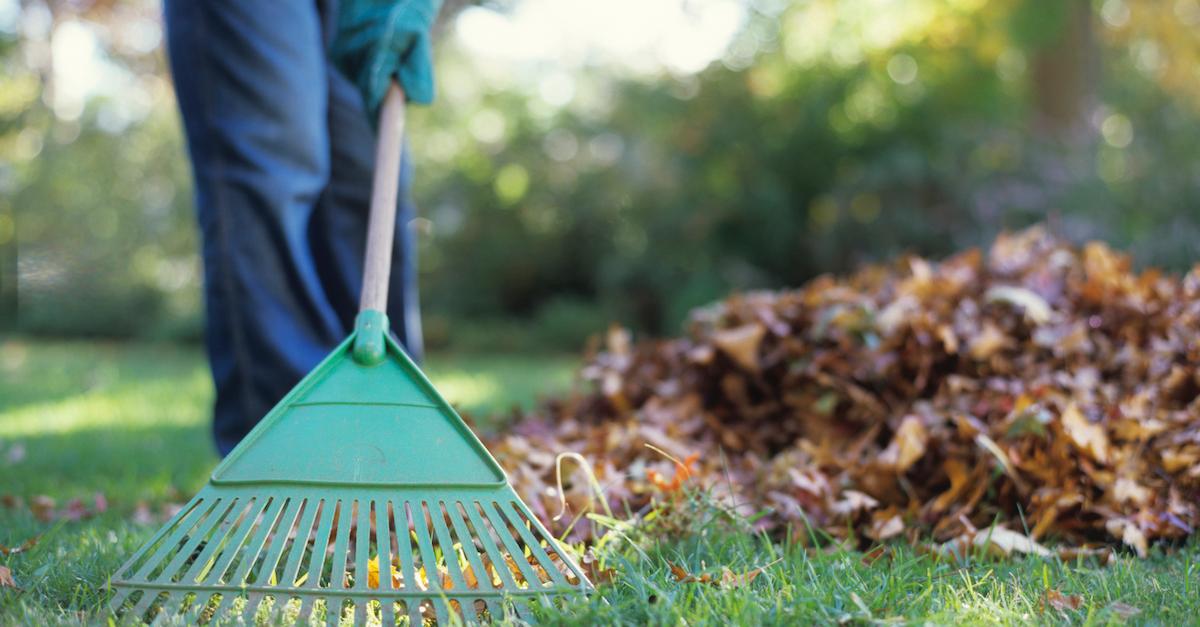
[{"label": "rake's wooden handle together with the green plastic socket below it", "polygon": [[396,235],[396,201],[400,193],[400,156],[404,143],[404,90],[395,82],[388,88],[379,112],[376,172],[367,217],[367,250],[362,262],[362,295],[354,322],[354,360],[371,366],[388,353],[388,280],[391,246]]}]

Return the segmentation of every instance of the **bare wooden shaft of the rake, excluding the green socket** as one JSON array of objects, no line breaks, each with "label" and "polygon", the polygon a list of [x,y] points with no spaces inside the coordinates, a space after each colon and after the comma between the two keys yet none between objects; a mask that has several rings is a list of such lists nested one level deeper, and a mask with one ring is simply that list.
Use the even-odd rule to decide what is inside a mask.
[{"label": "bare wooden shaft of the rake, excluding the green socket", "polygon": [[376,144],[374,183],[371,186],[371,215],[367,219],[367,250],[362,263],[362,294],[359,312],[388,311],[388,281],[391,275],[391,246],[396,234],[396,201],[400,193],[400,155],[404,142],[404,90],[395,82],[388,88],[379,112],[379,141]]}]

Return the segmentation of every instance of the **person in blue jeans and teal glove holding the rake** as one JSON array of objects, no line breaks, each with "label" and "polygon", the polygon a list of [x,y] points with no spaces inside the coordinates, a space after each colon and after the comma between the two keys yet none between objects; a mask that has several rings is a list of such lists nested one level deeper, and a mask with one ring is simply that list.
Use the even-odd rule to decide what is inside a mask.
[{"label": "person in blue jeans and teal glove holding the rake", "polygon": [[[350,332],[374,120],[391,80],[433,100],[440,0],[166,0],[203,240],[221,455]],[[421,356],[413,166],[401,167],[388,317]]]}]

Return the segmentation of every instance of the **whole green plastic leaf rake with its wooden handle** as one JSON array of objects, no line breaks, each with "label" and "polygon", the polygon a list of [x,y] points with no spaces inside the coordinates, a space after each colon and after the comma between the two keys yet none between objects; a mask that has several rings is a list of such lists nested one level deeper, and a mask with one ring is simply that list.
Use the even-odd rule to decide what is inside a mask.
[{"label": "whole green plastic leaf rake with its wooden handle", "polygon": [[113,574],[122,620],[445,625],[590,590],[388,334],[403,102],[380,113],[354,332]]}]

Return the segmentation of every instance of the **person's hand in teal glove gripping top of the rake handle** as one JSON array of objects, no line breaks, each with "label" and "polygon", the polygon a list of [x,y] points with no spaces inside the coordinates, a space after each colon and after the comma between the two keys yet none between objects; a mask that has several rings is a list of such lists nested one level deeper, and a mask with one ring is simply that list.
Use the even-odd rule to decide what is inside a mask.
[{"label": "person's hand in teal glove gripping top of the rake handle", "polygon": [[372,124],[392,78],[409,102],[433,102],[430,28],[442,0],[342,0],[330,55],[362,92]]}]

